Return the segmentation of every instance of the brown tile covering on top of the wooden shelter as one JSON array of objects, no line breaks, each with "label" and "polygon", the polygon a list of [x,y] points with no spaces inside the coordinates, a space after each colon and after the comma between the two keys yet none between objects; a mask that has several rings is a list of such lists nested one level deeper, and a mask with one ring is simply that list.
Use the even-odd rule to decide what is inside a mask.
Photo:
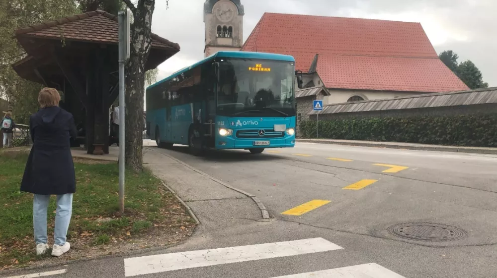
[{"label": "brown tile covering on top of the wooden shelter", "polygon": [[[16,37],[20,35],[48,39],[60,39],[63,35],[65,39],[74,41],[107,44],[119,42],[117,16],[102,10],[89,11],[21,28],[15,31]],[[152,34],[152,47],[179,51],[178,44],[156,34]]]}]

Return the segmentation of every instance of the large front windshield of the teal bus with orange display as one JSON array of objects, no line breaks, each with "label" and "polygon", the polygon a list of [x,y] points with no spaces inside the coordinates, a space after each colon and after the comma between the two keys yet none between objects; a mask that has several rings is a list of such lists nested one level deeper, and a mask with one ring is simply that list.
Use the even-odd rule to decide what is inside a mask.
[{"label": "large front windshield of the teal bus with orange display", "polygon": [[295,116],[294,86],[293,62],[223,59],[219,62],[217,114]]}]

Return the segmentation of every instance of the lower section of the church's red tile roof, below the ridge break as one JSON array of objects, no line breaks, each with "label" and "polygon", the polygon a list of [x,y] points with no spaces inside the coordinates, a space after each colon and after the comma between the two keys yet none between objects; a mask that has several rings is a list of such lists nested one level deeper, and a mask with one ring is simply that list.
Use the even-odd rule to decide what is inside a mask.
[{"label": "lower section of the church's red tile roof, below the ridge break", "polygon": [[320,55],[327,88],[446,92],[468,87],[438,58]]}]

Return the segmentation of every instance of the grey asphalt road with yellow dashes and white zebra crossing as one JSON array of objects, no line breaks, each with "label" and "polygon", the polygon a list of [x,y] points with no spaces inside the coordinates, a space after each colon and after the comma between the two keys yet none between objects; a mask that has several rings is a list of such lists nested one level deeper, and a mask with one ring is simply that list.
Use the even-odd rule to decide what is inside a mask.
[{"label": "grey asphalt road with yellow dashes and white zebra crossing", "polygon": [[[311,143],[260,155],[152,150],[256,195],[272,219],[261,222],[257,207],[232,193],[192,200],[202,224],[183,244],[140,255],[151,256],[145,259],[114,257],[42,271],[67,268],[53,278],[140,272],[148,274],[136,277],[300,278],[325,270],[331,271],[312,277],[497,277],[497,156]],[[184,194],[200,200],[194,191]],[[299,240],[316,248],[301,248]]]}]

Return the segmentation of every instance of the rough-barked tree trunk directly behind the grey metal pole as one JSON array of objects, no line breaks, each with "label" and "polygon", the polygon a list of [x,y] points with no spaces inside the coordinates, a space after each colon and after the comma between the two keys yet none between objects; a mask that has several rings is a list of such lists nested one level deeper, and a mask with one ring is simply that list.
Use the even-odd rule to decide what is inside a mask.
[{"label": "rough-barked tree trunk directly behind the grey metal pole", "polygon": [[152,14],[155,0],[140,0],[133,10],[134,22],[130,58],[127,64],[125,96],[125,165],[135,172],[143,171],[143,105],[145,64],[151,49]]}]

